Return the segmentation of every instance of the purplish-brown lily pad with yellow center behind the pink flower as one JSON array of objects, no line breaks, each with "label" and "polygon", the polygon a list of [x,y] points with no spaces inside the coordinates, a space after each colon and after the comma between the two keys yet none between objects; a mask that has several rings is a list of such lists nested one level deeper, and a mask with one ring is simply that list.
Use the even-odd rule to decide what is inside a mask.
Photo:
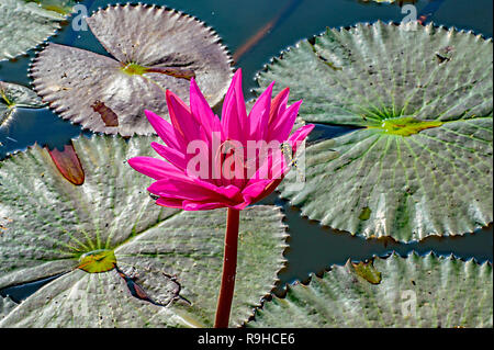
[{"label": "purplish-brown lily pad with yellow center behind the pink flower", "polygon": [[166,116],[166,89],[188,102],[195,77],[211,105],[226,93],[231,58],[204,23],[141,4],[109,7],[87,23],[112,57],[48,44],[32,67],[35,90],[63,118],[93,132],[149,135],[144,110]]}]

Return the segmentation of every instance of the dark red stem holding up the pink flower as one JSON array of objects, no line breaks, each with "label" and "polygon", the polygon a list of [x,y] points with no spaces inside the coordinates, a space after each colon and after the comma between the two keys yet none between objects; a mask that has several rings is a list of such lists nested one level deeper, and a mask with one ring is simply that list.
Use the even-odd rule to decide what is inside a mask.
[{"label": "dark red stem holding up the pink flower", "polygon": [[237,270],[238,226],[240,211],[228,208],[226,219],[225,251],[223,256],[223,275],[216,307],[214,328],[228,328],[229,313],[235,291]]}]

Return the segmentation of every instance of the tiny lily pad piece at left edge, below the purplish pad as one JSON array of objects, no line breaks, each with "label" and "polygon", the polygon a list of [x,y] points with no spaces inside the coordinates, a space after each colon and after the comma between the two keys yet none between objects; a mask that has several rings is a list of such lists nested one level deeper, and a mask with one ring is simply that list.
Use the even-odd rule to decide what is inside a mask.
[{"label": "tiny lily pad piece at left edge, below the purplish pad", "polygon": [[44,103],[31,89],[0,81],[0,127],[7,125],[16,108],[40,109]]}]

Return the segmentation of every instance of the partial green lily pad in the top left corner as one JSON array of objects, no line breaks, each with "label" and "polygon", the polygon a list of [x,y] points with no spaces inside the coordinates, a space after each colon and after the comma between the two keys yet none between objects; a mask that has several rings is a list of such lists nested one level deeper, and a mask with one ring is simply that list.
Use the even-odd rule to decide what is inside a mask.
[{"label": "partial green lily pad in the top left corner", "polygon": [[55,34],[75,3],[0,0],[0,61],[25,54]]}]

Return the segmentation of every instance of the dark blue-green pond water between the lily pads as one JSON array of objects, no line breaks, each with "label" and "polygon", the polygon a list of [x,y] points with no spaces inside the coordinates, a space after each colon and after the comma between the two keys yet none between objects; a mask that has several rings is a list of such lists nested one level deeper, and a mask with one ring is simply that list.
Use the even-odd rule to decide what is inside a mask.
[{"label": "dark blue-green pond water between the lily pads", "polygon": [[[90,11],[108,3],[123,1],[82,1]],[[377,4],[358,0],[167,0],[142,1],[190,13],[214,30],[232,54],[237,54],[237,67],[244,70],[245,92],[252,97],[250,89],[256,83],[254,77],[270,58],[299,39],[318,34],[329,27],[350,26],[357,22],[377,20],[400,22],[406,15],[398,4]],[[411,1],[405,2],[411,3]],[[492,0],[418,0],[414,3],[417,13],[427,15],[427,21],[446,26],[473,30],[475,33],[492,37]],[[144,25],[144,24],[143,24]],[[260,30],[268,27],[266,35],[250,49],[245,44]],[[105,50],[94,39],[91,32],[74,32],[66,25],[53,42],[86,48],[102,55]],[[242,55],[240,55],[242,54]],[[29,64],[34,53],[16,61],[0,63],[0,80],[29,84]],[[312,138],[330,138],[349,128],[317,126]],[[15,120],[0,129],[0,159],[9,153],[25,149],[38,143],[60,148],[70,138],[82,132],[79,126],[58,118],[49,110],[32,111],[21,109]],[[89,133],[87,133],[89,134]],[[397,244],[392,240],[363,239],[347,233],[336,233],[322,227],[300,215],[300,212],[271,195],[263,203],[283,206],[287,224],[290,226],[290,249],[287,251],[288,268],[281,273],[281,284],[295,280],[306,280],[310,273],[321,273],[330,264],[343,264],[347,259],[362,260],[373,256],[385,256],[395,250],[407,255],[415,250],[419,253],[434,251],[438,255],[454,256],[479,261],[493,259],[492,226],[462,237],[428,238],[420,242]],[[44,281],[46,282],[46,281]],[[33,293],[42,282],[25,287],[11,289],[8,294],[22,300]]]}]

